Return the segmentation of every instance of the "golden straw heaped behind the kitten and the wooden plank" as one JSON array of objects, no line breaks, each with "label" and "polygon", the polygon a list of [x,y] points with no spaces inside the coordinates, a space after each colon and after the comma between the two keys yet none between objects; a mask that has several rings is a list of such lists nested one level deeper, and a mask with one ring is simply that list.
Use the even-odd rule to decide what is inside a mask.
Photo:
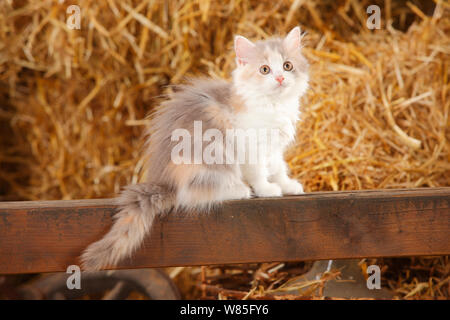
[{"label": "golden straw heaped behind the kitten and the wooden plank", "polygon": [[[261,39],[295,25],[308,33],[311,90],[287,159],[306,190],[450,186],[450,6],[437,3],[3,1],[0,199],[112,197],[138,182],[145,116],[165,86],[229,78],[234,34]],[[81,30],[65,24],[69,4],[81,8]],[[381,7],[381,30],[365,27],[370,4]],[[377,263],[397,297],[449,298],[448,257]],[[234,286],[222,270],[217,286],[227,279],[256,297],[256,285],[263,295],[308,264],[294,267]],[[171,270],[185,297],[199,297],[199,270]]]}]

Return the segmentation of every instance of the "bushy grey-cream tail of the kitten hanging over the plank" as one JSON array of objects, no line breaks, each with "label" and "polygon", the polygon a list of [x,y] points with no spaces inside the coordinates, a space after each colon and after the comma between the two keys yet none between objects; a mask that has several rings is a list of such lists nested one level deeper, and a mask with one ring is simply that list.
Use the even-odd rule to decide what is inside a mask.
[{"label": "bushy grey-cream tail of the kitten hanging over the plank", "polygon": [[129,257],[150,231],[155,216],[174,205],[174,196],[161,186],[137,184],[126,187],[117,204],[119,211],[111,230],[81,255],[83,270],[112,267]]}]

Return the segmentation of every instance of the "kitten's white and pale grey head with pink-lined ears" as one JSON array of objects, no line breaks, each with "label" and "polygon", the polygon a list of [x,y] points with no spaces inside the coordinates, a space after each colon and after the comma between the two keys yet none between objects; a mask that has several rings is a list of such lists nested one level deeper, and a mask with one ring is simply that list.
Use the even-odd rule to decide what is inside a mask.
[{"label": "kitten's white and pale grey head with pink-lined ears", "polygon": [[308,88],[308,62],[301,53],[299,27],[284,39],[275,38],[255,43],[236,36],[234,50],[237,68],[233,82],[241,94],[277,99],[300,97]]}]

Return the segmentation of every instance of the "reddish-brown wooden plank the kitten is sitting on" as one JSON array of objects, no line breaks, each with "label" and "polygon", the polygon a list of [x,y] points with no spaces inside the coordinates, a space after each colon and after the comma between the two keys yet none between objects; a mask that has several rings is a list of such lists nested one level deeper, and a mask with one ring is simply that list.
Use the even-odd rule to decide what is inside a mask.
[{"label": "reddish-brown wooden plank the kitten is sitting on", "polygon": [[[0,203],[0,274],[65,271],[111,199]],[[172,214],[119,268],[450,254],[450,188],[317,192]]]}]

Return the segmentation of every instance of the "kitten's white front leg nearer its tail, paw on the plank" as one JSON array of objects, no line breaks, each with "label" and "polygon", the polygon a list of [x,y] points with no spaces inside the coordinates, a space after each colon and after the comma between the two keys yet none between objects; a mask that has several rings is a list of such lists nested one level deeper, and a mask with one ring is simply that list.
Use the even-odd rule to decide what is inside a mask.
[{"label": "kitten's white front leg nearer its tail, paw on the plank", "polygon": [[241,167],[244,180],[257,197],[280,197],[281,188],[268,181],[267,167],[262,164],[244,164]]}]

